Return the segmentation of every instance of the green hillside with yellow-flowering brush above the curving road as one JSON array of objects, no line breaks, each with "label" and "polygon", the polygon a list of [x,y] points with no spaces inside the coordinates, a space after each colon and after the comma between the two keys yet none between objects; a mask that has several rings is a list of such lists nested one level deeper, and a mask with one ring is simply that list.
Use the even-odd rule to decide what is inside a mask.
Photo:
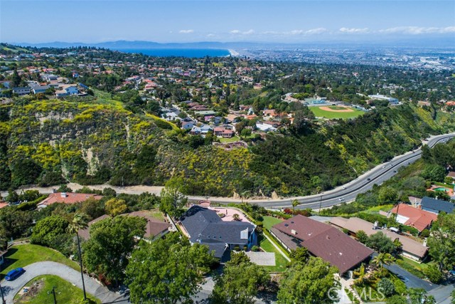
[{"label": "green hillside with yellow-flowering brush above the curving road", "polygon": [[180,176],[188,194],[311,194],[348,182],[455,125],[453,115],[438,112],[433,120],[434,113],[403,105],[268,135],[249,149],[223,150],[195,148],[166,122],[157,127],[153,117],[102,102],[21,98],[1,105],[1,189],[65,180],[162,185]]}]

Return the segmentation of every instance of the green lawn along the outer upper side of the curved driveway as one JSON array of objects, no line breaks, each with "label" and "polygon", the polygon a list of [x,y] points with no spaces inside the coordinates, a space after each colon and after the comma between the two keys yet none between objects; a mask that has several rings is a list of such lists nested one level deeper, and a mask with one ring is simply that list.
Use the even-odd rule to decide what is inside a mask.
[{"label": "green lawn along the outer upper side of the curved driveway", "polygon": [[14,268],[24,267],[41,261],[62,263],[80,271],[79,265],[69,258],[65,258],[62,253],[38,245],[23,244],[12,246],[4,255],[4,258],[5,263],[1,266],[0,278],[4,278],[6,273]]}]

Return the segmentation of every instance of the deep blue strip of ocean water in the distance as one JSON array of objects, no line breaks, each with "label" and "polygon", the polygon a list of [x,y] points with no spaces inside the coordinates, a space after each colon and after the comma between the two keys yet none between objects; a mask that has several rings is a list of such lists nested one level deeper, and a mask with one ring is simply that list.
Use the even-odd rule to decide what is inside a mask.
[{"label": "deep blue strip of ocean water in the distance", "polygon": [[224,57],[230,55],[230,52],[228,50],[216,48],[153,48],[153,49],[124,48],[119,51],[126,53],[143,53],[144,55],[158,57],[178,56],[190,58],[203,58],[205,56]]}]

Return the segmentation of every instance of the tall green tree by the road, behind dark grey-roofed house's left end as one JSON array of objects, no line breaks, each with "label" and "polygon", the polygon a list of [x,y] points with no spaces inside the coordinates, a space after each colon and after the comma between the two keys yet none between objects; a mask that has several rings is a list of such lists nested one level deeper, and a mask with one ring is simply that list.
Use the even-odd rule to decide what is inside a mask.
[{"label": "tall green tree by the road, behind dark grey-roofed house's left end", "polygon": [[181,216],[182,208],[188,199],[182,194],[183,179],[172,177],[166,182],[164,189],[161,190],[161,202],[159,209],[170,216]]}]

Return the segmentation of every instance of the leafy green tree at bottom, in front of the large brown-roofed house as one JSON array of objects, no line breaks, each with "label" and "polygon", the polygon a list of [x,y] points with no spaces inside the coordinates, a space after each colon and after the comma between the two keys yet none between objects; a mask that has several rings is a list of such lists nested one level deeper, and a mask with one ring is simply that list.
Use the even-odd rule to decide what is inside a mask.
[{"label": "leafy green tree at bottom, in front of the large brown-roofed house", "polygon": [[[309,258],[307,264],[295,263],[284,273],[279,284],[279,304],[332,304],[338,302],[334,288],[340,283],[334,277],[336,267],[321,258]],[[329,294],[331,296],[329,296]]]}]

